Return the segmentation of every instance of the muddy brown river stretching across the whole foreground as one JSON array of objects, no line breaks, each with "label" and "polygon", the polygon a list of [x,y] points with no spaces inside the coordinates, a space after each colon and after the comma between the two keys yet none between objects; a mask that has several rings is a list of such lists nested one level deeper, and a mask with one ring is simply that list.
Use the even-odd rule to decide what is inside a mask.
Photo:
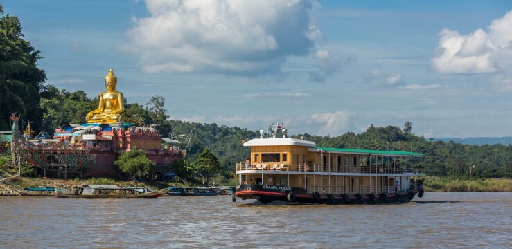
[{"label": "muddy brown river stretching across the whole foreground", "polygon": [[512,193],[388,205],[0,197],[1,248],[512,248]]}]

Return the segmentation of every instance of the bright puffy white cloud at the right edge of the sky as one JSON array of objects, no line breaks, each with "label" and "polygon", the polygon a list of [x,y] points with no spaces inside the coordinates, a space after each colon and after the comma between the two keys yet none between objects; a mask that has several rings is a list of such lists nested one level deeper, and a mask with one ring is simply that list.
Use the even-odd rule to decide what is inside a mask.
[{"label": "bright puffy white cloud at the right edge of the sky", "polygon": [[495,19],[487,31],[468,35],[443,28],[432,67],[439,73],[510,73],[512,60],[512,11]]}]

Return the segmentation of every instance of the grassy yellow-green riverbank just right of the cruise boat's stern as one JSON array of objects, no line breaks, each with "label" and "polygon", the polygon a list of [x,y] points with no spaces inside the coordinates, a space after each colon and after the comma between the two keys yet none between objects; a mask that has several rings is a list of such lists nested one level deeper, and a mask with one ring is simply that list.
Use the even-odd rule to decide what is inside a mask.
[{"label": "grassy yellow-green riverbank just right of the cruise boat's stern", "polygon": [[423,187],[425,192],[512,192],[512,179],[457,180],[427,176]]}]

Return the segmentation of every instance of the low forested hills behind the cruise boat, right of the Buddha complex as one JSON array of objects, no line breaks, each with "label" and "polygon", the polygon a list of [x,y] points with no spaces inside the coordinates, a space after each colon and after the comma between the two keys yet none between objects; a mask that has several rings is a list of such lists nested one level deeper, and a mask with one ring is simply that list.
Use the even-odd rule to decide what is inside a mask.
[{"label": "low forested hills behind the cruise boat, right of the Buddha complex", "polygon": [[[409,123],[410,124],[410,123]],[[218,155],[224,169],[232,169],[234,163],[244,160],[249,149],[242,142],[256,138],[256,131],[238,127],[218,127],[217,124],[197,124],[170,121],[173,135],[192,133],[191,153],[196,155],[203,148],[209,148]],[[410,124],[412,125],[412,124]],[[369,127],[360,134],[345,133],[341,136],[313,136],[297,134],[292,138],[304,137],[318,147],[378,149],[415,151],[425,155],[425,173],[431,176],[450,178],[500,178],[512,177],[511,145],[462,145],[455,142],[432,142],[411,133],[411,127],[404,132],[399,127]],[[473,165],[475,167],[473,168]],[[470,174],[471,168],[471,174]]]}]

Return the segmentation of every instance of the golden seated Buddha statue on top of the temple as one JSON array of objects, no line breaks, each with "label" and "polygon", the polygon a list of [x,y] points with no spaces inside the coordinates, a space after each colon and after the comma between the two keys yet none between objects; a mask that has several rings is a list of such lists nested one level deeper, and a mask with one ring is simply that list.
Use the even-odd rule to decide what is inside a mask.
[{"label": "golden seated Buddha statue on top of the temple", "polygon": [[125,109],[123,93],[116,91],[117,77],[110,68],[109,74],[105,77],[105,87],[107,91],[100,93],[100,103],[98,109],[87,113],[85,122],[113,123],[121,120],[121,112]]}]

